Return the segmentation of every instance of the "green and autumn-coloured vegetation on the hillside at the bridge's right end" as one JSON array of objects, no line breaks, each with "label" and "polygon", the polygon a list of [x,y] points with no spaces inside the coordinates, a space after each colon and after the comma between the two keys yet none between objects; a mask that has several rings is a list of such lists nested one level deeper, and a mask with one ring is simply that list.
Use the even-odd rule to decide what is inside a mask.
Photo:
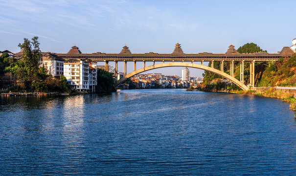
[{"label": "green and autumn-coloured vegetation on the hillside at the bridge's right end", "polygon": [[[237,50],[239,53],[254,53],[254,52],[267,52],[257,44],[244,44]],[[211,63],[209,63],[211,66]],[[220,70],[220,63],[214,62],[214,68]],[[224,63],[224,70],[229,74],[230,63]],[[255,63],[255,87],[275,87],[275,86],[296,86],[296,55],[291,58],[280,58],[279,61],[273,62],[256,62]],[[238,90],[236,85],[226,87],[221,83],[222,77],[205,71],[203,74],[204,82],[201,84],[201,89],[205,91],[221,91],[225,90]],[[240,68],[239,62],[234,64],[234,77],[239,80]],[[250,83],[250,63],[245,62],[244,81]]]}]

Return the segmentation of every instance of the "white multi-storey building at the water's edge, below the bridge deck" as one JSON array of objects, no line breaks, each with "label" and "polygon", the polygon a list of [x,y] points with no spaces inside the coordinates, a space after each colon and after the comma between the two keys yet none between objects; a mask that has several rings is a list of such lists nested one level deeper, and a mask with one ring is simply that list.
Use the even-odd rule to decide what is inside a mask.
[{"label": "white multi-storey building at the water's edge, below the bridge deck", "polygon": [[72,88],[78,91],[94,91],[97,83],[96,67],[89,59],[68,60],[64,63],[64,76]]}]

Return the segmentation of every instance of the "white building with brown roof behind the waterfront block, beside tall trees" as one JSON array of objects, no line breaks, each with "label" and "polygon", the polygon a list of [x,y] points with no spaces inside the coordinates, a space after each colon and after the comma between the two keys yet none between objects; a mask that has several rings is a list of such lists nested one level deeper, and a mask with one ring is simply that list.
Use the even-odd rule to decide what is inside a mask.
[{"label": "white building with brown roof behind the waterfront block, beside tall trees", "polygon": [[48,74],[54,77],[60,77],[64,75],[64,61],[63,58],[47,52],[41,56],[40,66],[44,66]]}]

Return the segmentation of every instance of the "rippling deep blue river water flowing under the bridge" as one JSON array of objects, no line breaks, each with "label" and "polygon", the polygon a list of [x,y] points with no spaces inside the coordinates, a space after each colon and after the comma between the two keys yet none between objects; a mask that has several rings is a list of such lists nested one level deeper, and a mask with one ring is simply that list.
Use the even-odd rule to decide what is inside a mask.
[{"label": "rippling deep blue river water flowing under the bridge", "polygon": [[0,98],[0,175],[296,175],[289,104],[183,89]]}]

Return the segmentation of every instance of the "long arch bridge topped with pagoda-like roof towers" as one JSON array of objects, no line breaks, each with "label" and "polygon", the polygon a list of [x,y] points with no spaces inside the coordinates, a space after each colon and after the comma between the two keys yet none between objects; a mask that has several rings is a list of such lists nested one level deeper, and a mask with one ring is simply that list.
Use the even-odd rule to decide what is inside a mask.
[{"label": "long arch bridge topped with pagoda-like roof towers", "polygon": [[[228,46],[228,50],[226,53],[219,53],[213,54],[208,52],[197,53],[197,54],[185,54],[182,51],[181,45],[179,43],[176,44],[173,53],[171,54],[159,54],[154,52],[149,53],[135,53],[132,54],[129,50],[129,47],[126,45],[123,46],[123,49],[120,53],[81,53],[77,46],[73,46],[68,53],[55,53],[57,56],[65,59],[65,60],[72,60],[72,59],[90,59],[94,62],[104,62],[105,69],[109,71],[109,62],[114,61],[114,72],[115,77],[117,77],[118,69],[117,64],[118,62],[124,62],[124,77],[117,80],[114,83],[114,86],[118,86],[119,84],[123,83],[126,79],[137,75],[141,72],[161,68],[161,67],[168,67],[168,66],[187,66],[193,68],[204,69],[213,73],[216,73],[232,83],[236,84],[243,90],[248,90],[249,88],[245,85],[244,81],[244,68],[245,63],[250,63],[250,85],[254,87],[255,85],[255,62],[265,62],[265,61],[277,61],[279,58],[289,58],[294,55],[293,50],[285,46],[283,49],[278,53],[265,53],[265,52],[257,52],[257,53],[250,53],[250,54],[241,54],[237,52],[233,45]],[[134,63],[134,71],[131,73],[127,73],[127,62]],[[143,67],[140,69],[136,69],[136,63],[142,62]],[[152,66],[145,66],[146,62],[153,62]],[[155,64],[155,62],[162,62],[162,64]],[[165,63],[166,62],[166,63]],[[169,62],[169,63],[167,63]],[[190,62],[190,63],[188,63]],[[194,62],[200,62],[201,64],[195,64]],[[210,62],[211,66],[204,66],[204,62]],[[220,70],[214,68],[214,62],[220,62]],[[226,62],[230,63],[230,71],[229,74],[224,72],[224,64]],[[234,78],[234,62],[240,63],[240,80]]]}]

